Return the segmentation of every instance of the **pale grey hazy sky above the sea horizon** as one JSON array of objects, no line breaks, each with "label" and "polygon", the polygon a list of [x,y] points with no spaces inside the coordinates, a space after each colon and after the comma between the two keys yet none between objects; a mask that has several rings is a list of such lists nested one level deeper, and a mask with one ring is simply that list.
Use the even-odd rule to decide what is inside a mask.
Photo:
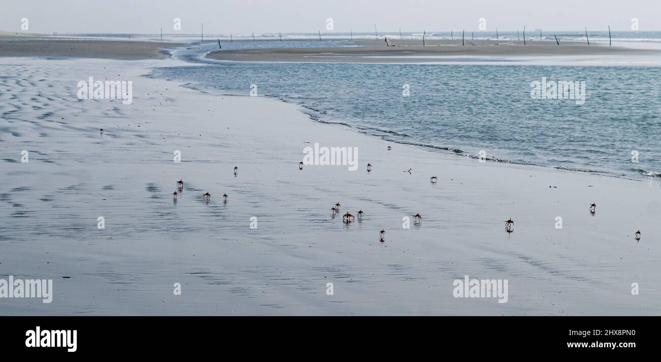
[{"label": "pale grey hazy sky above the sea horizon", "polygon": [[0,30],[42,34],[477,31],[481,18],[490,31],[661,30],[659,17],[661,0],[0,0]]}]

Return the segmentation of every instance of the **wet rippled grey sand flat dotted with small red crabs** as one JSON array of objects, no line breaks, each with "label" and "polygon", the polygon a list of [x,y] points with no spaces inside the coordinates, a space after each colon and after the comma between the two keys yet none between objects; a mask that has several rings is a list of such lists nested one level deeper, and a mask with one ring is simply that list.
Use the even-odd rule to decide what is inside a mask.
[{"label": "wet rippled grey sand flat dotted with small red crabs", "polygon": [[[0,277],[55,291],[0,299],[1,314],[661,312],[658,183],[479,163],[139,76],[173,64],[0,60]],[[77,99],[90,76],[132,80],[134,104]],[[358,147],[358,171],[299,170],[315,142]],[[337,202],[366,215],[344,224]],[[508,302],[454,298],[464,275],[508,279]]]}]

